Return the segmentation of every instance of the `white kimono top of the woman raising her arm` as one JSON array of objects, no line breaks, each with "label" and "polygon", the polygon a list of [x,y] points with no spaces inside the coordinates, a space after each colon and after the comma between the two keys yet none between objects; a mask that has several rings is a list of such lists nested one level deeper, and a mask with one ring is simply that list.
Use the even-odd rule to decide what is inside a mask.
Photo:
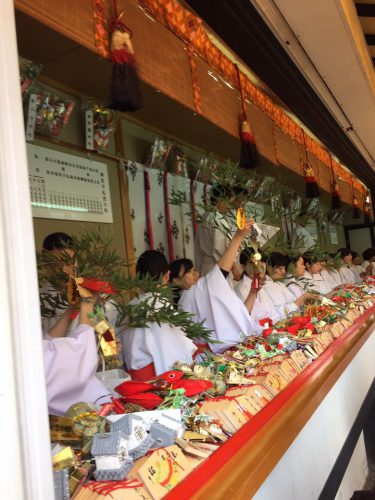
[{"label": "white kimono top of the woman raising her arm", "polygon": [[212,339],[222,342],[209,343],[213,352],[238,344],[241,333],[255,333],[255,325],[248,310],[217,265],[196,285],[181,293],[178,305],[192,313],[197,321],[203,321],[204,326],[212,330]]}]

